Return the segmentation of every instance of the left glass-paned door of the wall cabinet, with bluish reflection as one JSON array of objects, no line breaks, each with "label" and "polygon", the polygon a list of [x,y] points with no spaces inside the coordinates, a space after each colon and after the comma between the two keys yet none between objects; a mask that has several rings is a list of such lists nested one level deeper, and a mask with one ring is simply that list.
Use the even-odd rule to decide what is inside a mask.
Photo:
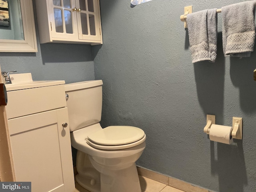
[{"label": "left glass-paned door of the wall cabinet, with bluish reflection", "polygon": [[52,37],[72,38],[77,36],[76,9],[74,0],[50,0]]}]

